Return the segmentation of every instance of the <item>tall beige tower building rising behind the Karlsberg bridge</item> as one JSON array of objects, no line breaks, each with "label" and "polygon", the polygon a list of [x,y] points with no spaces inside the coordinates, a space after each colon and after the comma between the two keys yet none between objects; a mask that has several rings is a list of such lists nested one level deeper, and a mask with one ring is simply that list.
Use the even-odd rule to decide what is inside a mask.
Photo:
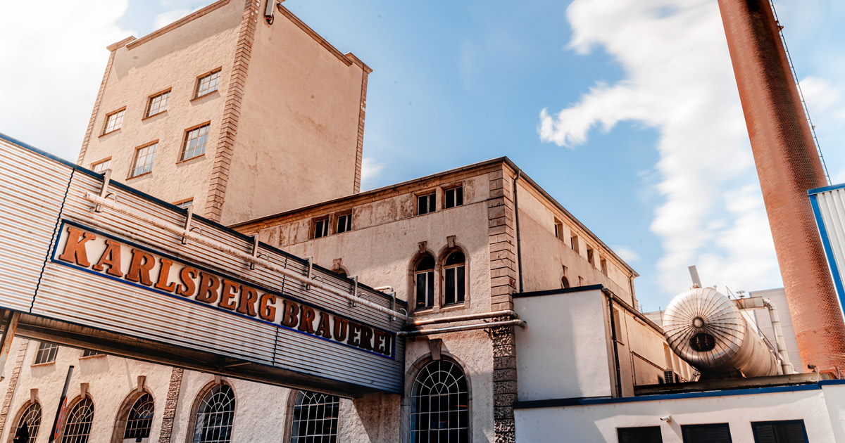
[{"label": "tall beige tower building rising behind the Karlsberg bridge", "polygon": [[109,46],[79,165],[224,224],[357,192],[371,69],[261,11],[219,0]]}]

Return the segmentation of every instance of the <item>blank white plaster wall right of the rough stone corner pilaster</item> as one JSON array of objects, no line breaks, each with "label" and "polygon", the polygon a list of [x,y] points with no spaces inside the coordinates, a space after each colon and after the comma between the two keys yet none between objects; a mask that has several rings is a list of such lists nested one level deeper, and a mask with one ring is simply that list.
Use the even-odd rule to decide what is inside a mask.
[{"label": "blank white plaster wall right of the rough stone corner pilaster", "polygon": [[528,323],[516,329],[520,401],[611,395],[604,300],[597,289],[514,300]]}]

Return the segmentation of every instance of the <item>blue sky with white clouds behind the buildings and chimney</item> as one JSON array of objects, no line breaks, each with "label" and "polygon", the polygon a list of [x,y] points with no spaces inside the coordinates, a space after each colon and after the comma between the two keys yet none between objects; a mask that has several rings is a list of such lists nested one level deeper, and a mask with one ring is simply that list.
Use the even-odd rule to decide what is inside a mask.
[{"label": "blue sky with white clouds behind the buildings and chimney", "polygon": [[[0,4],[0,132],[75,159],[105,46],[207,3]],[[284,4],[373,68],[365,187],[507,155],[635,267],[646,310],[690,264],[720,288],[781,285],[716,0]],[[845,4],[776,6],[845,181]]]}]

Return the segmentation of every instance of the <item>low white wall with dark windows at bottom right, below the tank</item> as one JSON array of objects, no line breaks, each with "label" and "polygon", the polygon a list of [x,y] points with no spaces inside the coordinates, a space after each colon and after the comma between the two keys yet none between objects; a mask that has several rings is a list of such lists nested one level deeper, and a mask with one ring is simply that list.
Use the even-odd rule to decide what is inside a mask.
[{"label": "low white wall with dark windows at bottom right, below the tank", "polygon": [[[516,441],[616,442],[616,428],[660,426],[664,443],[681,443],[683,424],[728,423],[735,443],[752,443],[752,421],[803,419],[812,442],[837,440],[831,429],[826,392],[820,389],[756,395],[625,402],[593,406],[517,409]],[[839,404],[842,404],[841,402]],[[841,409],[840,409],[841,410]],[[671,416],[671,422],[661,417]],[[841,425],[841,424],[840,424]]]}]

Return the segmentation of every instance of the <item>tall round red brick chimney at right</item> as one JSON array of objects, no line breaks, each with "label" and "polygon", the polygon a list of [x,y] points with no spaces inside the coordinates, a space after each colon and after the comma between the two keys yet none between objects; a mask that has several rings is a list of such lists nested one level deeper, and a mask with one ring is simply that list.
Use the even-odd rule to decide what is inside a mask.
[{"label": "tall round red brick chimney at right", "polygon": [[778,23],[768,0],[718,2],[801,360],[843,370],[845,323],[807,197],[827,182]]}]

